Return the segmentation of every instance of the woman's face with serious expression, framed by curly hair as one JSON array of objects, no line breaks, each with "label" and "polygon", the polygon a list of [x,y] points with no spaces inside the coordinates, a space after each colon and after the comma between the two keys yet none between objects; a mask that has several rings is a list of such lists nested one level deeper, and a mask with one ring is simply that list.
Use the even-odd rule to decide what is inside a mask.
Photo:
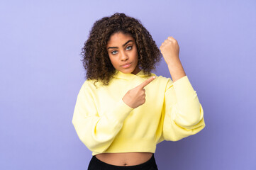
[{"label": "woman's face with serious expression, framed by curly hair", "polygon": [[[123,73],[137,74],[138,52],[134,38],[129,34],[114,33],[107,42],[106,50],[113,67]],[[123,64],[130,63],[123,67]]]}]

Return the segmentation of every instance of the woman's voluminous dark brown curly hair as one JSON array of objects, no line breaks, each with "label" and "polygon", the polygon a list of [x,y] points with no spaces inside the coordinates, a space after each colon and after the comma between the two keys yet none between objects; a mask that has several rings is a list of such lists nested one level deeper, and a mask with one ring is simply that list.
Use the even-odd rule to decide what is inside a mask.
[{"label": "woman's voluminous dark brown curly hair", "polygon": [[[106,45],[114,33],[130,34],[135,39],[138,50],[138,67],[143,69],[146,76],[151,76],[155,64],[160,62],[161,53],[148,30],[140,20],[124,13],[114,13],[96,21],[89,31],[89,38],[82,47],[82,62],[87,69],[87,79],[101,81],[108,85],[116,69],[108,57]],[[94,82],[94,85],[95,85]]]}]

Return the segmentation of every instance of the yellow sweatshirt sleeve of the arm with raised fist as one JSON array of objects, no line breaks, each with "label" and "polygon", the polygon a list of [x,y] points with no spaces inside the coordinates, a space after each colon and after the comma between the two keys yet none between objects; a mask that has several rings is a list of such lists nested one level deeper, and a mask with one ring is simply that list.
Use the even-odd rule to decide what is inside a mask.
[{"label": "yellow sweatshirt sleeve of the arm with raised fist", "polygon": [[162,140],[182,140],[195,135],[206,125],[199,98],[186,76],[172,81],[168,79],[163,106]]}]

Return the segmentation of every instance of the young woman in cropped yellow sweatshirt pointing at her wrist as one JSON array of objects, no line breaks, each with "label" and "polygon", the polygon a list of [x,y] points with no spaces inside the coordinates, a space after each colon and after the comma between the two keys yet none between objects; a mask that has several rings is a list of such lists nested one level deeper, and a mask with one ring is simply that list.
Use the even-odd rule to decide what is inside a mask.
[{"label": "young woman in cropped yellow sweatshirt pointing at her wrist", "polygon": [[[92,152],[88,169],[157,169],[158,143],[205,127],[177,40],[168,37],[160,50],[140,21],[124,13],[94,23],[82,48],[87,80],[72,118]],[[172,80],[151,73],[161,53]]]}]

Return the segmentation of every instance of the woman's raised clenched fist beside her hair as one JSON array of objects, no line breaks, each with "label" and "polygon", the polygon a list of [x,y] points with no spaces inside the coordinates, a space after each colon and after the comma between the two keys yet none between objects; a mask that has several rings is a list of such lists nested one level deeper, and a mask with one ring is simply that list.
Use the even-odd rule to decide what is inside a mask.
[{"label": "woman's raised clenched fist beside her hair", "polygon": [[167,64],[179,61],[179,44],[173,37],[162,42],[160,50]]}]

